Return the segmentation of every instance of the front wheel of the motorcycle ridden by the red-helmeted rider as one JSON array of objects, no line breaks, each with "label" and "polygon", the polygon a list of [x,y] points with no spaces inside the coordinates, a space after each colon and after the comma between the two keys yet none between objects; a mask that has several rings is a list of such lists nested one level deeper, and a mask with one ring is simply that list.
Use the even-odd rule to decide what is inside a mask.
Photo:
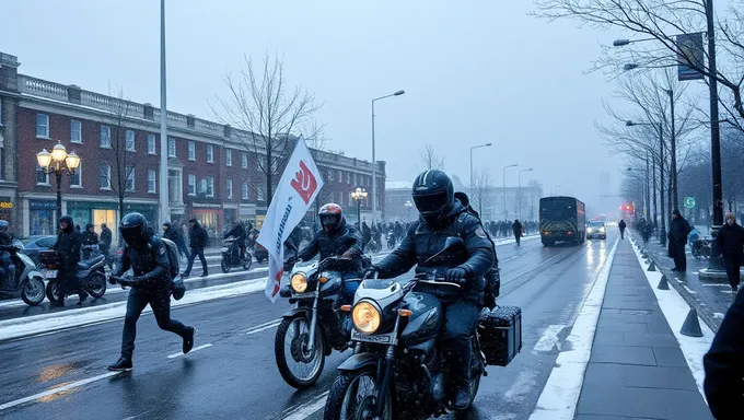
[{"label": "front wheel of the motorcycle ridden by the red-helmeted rider", "polygon": [[317,382],[325,364],[325,342],[321,328],[315,327],[313,351],[307,350],[310,320],[302,315],[284,318],[277,328],[274,353],[281,377],[290,386],[306,388]]}]

